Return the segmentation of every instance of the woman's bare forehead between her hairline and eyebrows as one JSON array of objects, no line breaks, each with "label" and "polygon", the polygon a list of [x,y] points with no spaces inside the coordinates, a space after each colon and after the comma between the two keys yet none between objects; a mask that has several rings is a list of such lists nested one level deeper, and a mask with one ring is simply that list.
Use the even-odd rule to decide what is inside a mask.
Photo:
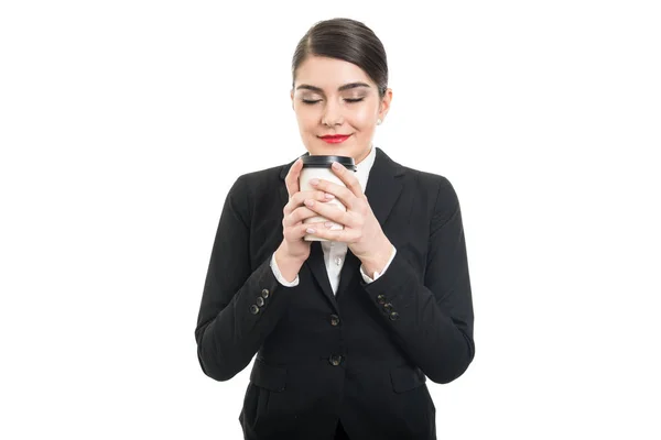
[{"label": "woman's bare forehead between her hairline and eyebrows", "polygon": [[308,84],[327,91],[335,91],[347,82],[367,82],[376,87],[365,70],[344,59],[311,56],[296,69],[296,86]]}]

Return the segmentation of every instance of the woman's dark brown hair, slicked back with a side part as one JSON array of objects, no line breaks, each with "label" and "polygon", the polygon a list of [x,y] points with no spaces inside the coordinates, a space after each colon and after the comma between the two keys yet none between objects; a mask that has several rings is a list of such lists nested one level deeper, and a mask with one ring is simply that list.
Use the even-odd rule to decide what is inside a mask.
[{"label": "woman's dark brown hair, slicked back with a side part", "polygon": [[308,56],[344,59],[360,67],[383,98],[388,88],[388,59],[381,41],[371,29],[351,19],[332,19],[315,23],[303,35],[292,59],[292,87],[296,69]]}]

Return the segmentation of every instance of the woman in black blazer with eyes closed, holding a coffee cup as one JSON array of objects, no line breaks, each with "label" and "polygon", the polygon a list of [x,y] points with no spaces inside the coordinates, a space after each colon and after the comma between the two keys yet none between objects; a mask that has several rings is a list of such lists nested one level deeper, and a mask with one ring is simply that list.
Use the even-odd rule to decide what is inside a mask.
[{"label": "woman in black blazer with eyes closed, holding a coffee cup", "polygon": [[[306,154],[351,156],[357,172],[334,168],[346,187],[322,179],[301,191],[299,158],[236,180],[195,330],[199,363],[227,381],[257,354],[246,439],[435,439],[426,377],[451,382],[475,353],[457,196],[445,177],[372,146],[392,91],[362,23],[315,24],[292,73]],[[334,197],[346,212],[324,204]],[[303,224],[317,215],[344,230]]]}]

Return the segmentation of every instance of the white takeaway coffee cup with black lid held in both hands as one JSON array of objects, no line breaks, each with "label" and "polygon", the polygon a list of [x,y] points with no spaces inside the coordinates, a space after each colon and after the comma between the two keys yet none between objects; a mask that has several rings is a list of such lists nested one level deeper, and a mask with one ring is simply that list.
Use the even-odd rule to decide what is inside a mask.
[{"label": "white takeaway coffee cup with black lid held in both hands", "polygon": [[[344,182],[339,179],[333,173],[330,166],[333,162],[337,162],[340,165],[344,165],[347,169],[356,172],[356,164],[354,163],[354,157],[347,156],[303,156],[303,169],[301,169],[301,176],[299,177],[299,185],[302,191],[315,190],[312,185],[310,185],[310,180],[313,178],[319,178],[328,182],[333,182],[334,184],[346,186]],[[325,202],[326,205],[334,205],[337,209],[346,211],[347,208],[337,199],[330,199]],[[327,221],[328,219],[322,216],[311,217],[308,219],[303,220],[303,223],[316,223],[322,221]],[[343,230],[344,226],[335,224],[330,230]],[[326,239],[322,239],[315,235],[307,234],[304,237],[305,241],[328,241]]]}]

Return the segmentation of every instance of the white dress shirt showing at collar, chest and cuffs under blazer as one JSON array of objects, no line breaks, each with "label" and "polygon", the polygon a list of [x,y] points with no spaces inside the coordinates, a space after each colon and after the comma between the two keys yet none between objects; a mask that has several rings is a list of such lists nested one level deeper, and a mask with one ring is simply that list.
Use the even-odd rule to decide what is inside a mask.
[{"label": "white dress shirt showing at collar, chest and cuffs under blazer", "polygon": [[[358,178],[360,183],[360,188],[362,188],[362,193],[365,194],[365,188],[367,187],[367,180],[369,178],[369,172],[375,163],[375,158],[377,157],[376,147],[372,145],[369,154],[365,157],[359,164],[356,164],[356,173],[355,176]],[[330,287],[333,287],[333,293],[337,294],[337,286],[339,285],[339,274],[342,267],[344,266],[345,257],[347,255],[348,245],[343,242],[333,242],[333,241],[322,241],[322,250],[324,251],[324,262],[326,263],[326,272],[328,273],[328,279],[330,280]],[[380,272],[375,272],[375,277],[370,278],[364,271],[362,265],[360,265],[360,275],[365,283],[372,283],[379,276],[386,273],[388,266],[394,258],[394,254],[397,253],[397,249],[392,246],[392,253],[390,255],[390,260],[386,264],[386,266]],[[280,273],[280,268],[275,263],[275,253],[271,256],[271,268],[273,270],[273,274],[280,284],[286,287],[293,287],[299,285],[299,275],[293,282],[288,282],[284,279],[282,274]]]}]

